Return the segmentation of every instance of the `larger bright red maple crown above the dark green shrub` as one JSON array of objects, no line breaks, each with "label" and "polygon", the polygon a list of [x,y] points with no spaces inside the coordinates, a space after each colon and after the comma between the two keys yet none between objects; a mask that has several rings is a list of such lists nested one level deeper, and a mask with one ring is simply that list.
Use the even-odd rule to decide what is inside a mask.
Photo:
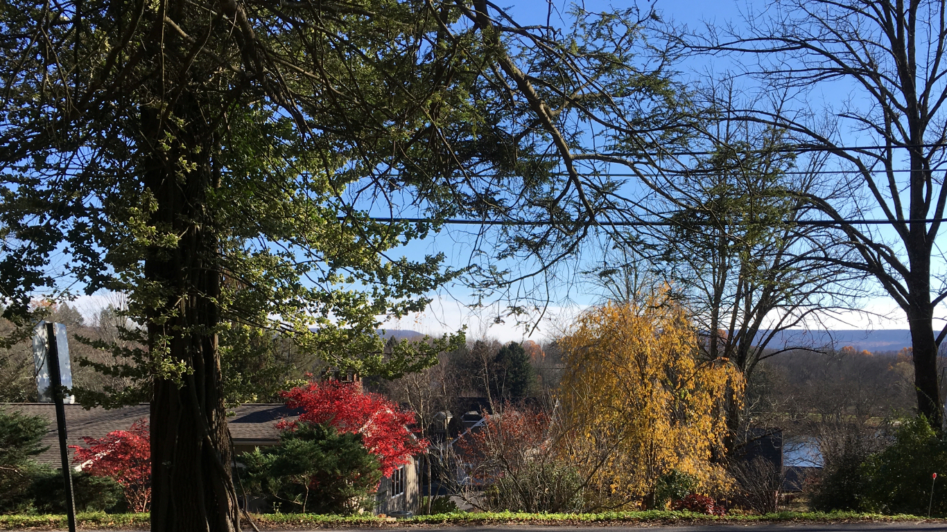
[{"label": "larger bright red maple crown above the dark green shrub", "polygon": [[[411,455],[424,452],[427,442],[408,427],[414,415],[402,412],[394,402],[377,394],[366,394],[350,382],[310,382],[281,392],[290,408],[302,408],[300,421],[327,423],[340,433],[361,433],[368,452],[378,457],[382,474],[408,463]],[[277,428],[293,430],[295,421],[280,421]]]}]

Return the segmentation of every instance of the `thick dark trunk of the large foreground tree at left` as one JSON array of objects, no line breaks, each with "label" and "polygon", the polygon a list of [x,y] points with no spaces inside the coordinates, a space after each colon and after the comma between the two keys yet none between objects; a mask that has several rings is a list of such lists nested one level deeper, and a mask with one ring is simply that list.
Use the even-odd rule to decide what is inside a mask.
[{"label": "thick dark trunk of the large foreground tree at left", "polygon": [[[153,224],[178,237],[176,244],[153,245],[145,261],[145,278],[154,283],[147,310],[149,347],[165,367],[187,367],[177,378],[173,371],[160,375],[166,370],[159,365],[153,382],[152,531],[230,532],[240,530],[240,517],[216,334],[220,249],[206,202],[208,190],[218,184],[201,115],[188,113],[185,105],[178,111],[195,119],[173,127],[170,150],[154,151],[144,176],[157,203]],[[142,123],[152,139],[171,127],[150,110]],[[182,159],[193,166],[181,168]]]}]

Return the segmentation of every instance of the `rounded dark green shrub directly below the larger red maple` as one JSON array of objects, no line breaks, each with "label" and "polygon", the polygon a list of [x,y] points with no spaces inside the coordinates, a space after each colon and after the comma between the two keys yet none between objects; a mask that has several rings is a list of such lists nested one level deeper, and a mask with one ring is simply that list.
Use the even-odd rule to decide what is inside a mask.
[{"label": "rounded dark green shrub directly below the larger red maple", "polygon": [[241,455],[248,494],[280,511],[351,514],[370,506],[381,479],[378,459],[362,434],[338,434],[330,425],[300,423],[279,445]]}]

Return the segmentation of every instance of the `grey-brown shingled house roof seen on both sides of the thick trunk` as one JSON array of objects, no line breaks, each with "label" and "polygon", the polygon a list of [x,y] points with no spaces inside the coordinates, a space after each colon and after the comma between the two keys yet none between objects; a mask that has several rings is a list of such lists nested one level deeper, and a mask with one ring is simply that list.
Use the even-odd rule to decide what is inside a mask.
[{"label": "grey-brown shingled house roof seen on both sides of the thick trunk", "polygon": [[[151,406],[148,403],[124,406],[113,410],[93,408],[85,410],[78,404],[66,404],[66,443],[84,447],[83,436],[100,438],[113,431],[127,431],[132,424],[148,419]],[[0,410],[20,412],[26,416],[43,417],[49,424],[43,438],[48,447],[35,457],[37,462],[53,467],[60,466],[59,434],[56,429],[56,408],[52,403],[0,403]],[[285,404],[241,404],[228,410],[227,426],[234,445],[274,445],[279,441],[276,424],[280,419],[298,419],[301,409],[291,409]]]}]

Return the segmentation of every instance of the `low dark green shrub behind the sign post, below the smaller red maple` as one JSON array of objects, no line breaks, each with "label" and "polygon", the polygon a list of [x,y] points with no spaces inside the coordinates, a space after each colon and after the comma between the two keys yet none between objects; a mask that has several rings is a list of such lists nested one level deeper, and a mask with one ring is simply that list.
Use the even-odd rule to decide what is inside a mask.
[{"label": "low dark green shrub behind the sign post, below the smaller red maple", "polygon": [[[112,478],[73,473],[73,498],[76,511],[124,510],[125,494]],[[62,470],[45,470],[33,479],[33,505],[42,513],[65,513],[65,486]]]}]

